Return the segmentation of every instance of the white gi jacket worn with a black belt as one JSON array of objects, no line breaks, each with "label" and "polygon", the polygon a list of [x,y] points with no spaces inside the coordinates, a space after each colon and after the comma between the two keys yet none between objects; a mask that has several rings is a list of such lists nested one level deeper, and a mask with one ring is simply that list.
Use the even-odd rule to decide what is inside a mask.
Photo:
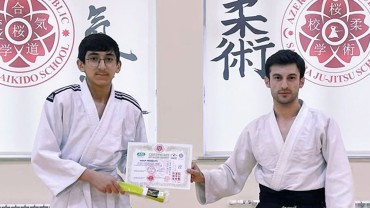
[{"label": "white gi jacket worn with a black belt", "polygon": [[353,179],[334,120],[303,101],[285,142],[274,112],[251,122],[228,160],[203,171],[198,201],[212,203],[239,193],[255,168],[258,183],[273,190],[306,191],[325,187],[327,208],[353,208]]}]

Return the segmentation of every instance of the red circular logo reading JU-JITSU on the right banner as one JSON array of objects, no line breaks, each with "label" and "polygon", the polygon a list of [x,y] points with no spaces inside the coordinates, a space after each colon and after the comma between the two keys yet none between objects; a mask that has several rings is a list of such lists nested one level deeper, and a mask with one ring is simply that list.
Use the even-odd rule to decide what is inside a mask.
[{"label": "red circular logo reading JU-JITSU on the right banner", "polygon": [[281,41],[304,57],[307,80],[341,87],[369,75],[369,8],[359,0],[291,1]]}]

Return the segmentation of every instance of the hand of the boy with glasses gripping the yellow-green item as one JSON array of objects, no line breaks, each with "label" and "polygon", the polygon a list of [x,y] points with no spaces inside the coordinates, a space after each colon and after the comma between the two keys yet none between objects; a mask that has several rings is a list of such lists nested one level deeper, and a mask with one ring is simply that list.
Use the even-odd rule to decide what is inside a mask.
[{"label": "hand of the boy with glasses gripping the yellow-green item", "polygon": [[80,180],[90,183],[103,193],[125,193],[118,185],[117,179],[108,174],[86,169],[80,176]]}]

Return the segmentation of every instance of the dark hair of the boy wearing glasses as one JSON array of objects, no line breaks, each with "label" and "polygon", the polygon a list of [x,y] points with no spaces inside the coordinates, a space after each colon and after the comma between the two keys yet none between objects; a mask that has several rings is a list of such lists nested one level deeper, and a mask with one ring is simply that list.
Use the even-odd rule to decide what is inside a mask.
[{"label": "dark hair of the boy wearing glasses", "polygon": [[113,38],[104,33],[94,33],[86,36],[78,47],[78,59],[85,63],[88,51],[113,51],[119,61],[120,51],[118,44]]}]

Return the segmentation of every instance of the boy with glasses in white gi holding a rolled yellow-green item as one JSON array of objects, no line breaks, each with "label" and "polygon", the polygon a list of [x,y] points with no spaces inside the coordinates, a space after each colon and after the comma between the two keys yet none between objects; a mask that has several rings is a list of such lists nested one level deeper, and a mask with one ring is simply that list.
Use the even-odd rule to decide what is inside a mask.
[{"label": "boy with glasses in white gi holding a rolled yellow-green item", "polygon": [[118,170],[125,173],[128,142],[147,138],[139,104],[113,88],[119,58],[111,37],[86,36],[77,60],[86,78],[45,101],[31,162],[53,195],[53,208],[131,207]]}]

